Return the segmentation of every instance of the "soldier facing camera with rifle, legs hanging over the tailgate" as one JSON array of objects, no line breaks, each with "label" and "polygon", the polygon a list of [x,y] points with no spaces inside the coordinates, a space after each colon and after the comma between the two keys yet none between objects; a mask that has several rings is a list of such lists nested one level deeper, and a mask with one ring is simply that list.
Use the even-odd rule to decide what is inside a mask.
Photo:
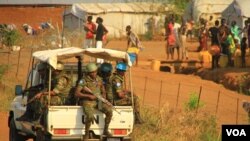
[{"label": "soldier facing camera with rifle, legs hanging over the tailgate", "polygon": [[[84,140],[88,140],[89,138],[91,122],[94,121],[94,111],[98,106],[98,99],[93,93],[98,95],[102,94],[104,98],[106,97],[102,79],[97,75],[96,64],[89,63],[86,66],[86,71],[87,75],[84,79],[79,81],[75,93],[76,97],[80,99],[80,103],[83,106],[83,112],[86,114]],[[106,115],[103,134],[112,136],[112,134],[108,131],[109,123],[113,116],[112,108],[107,104],[102,103],[102,106],[100,106],[98,109]]]}]

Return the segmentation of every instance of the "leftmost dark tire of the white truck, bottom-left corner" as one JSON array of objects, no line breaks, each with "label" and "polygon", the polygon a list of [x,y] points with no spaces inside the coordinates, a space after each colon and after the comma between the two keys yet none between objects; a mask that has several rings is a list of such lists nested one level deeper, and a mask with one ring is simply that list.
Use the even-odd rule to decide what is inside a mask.
[{"label": "leftmost dark tire of the white truck, bottom-left corner", "polygon": [[16,129],[16,124],[13,118],[10,120],[9,141],[26,141],[24,136],[18,134],[18,130]]}]

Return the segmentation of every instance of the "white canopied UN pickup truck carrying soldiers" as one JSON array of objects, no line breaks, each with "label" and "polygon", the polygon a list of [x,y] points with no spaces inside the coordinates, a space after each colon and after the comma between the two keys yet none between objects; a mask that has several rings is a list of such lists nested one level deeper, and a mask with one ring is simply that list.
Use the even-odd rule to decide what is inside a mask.
[{"label": "white canopied UN pickup truck carrying soldiers", "polygon": [[[39,62],[46,62],[49,64],[49,74],[51,69],[63,59],[73,60],[77,59],[75,63],[65,63],[65,71],[71,74],[76,81],[77,71],[84,69],[79,56],[91,56],[104,58],[109,61],[126,60],[127,64],[131,66],[129,55],[126,52],[110,50],[110,49],[80,49],[76,47],[37,51],[33,53],[33,64],[38,60]],[[76,57],[78,56],[78,57]],[[74,62],[74,61],[73,61]],[[78,64],[78,65],[77,65]],[[39,81],[37,67],[32,67],[27,81],[27,86],[34,86]],[[131,72],[131,71],[129,71]],[[129,75],[131,76],[131,75]],[[51,76],[49,77],[51,79]],[[31,81],[32,80],[32,81]],[[132,83],[130,82],[130,86]],[[26,87],[27,87],[26,86]],[[131,89],[132,90],[132,89]],[[50,103],[50,102],[49,102]],[[28,121],[16,121],[16,118],[24,114],[27,104],[27,95],[23,94],[22,87],[16,86],[16,97],[11,103],[9,111],[8,125],[10,129],[10,141],[25,141],[33,139],[34,141],[53,141],[53,140],[83,140],[85,133],[85,115],[82,107],[78,105],[64,105],[64,106],[51,106],[49,105],[43,122],[37,126]],[[133,131],[134,113],[133,106],[115,106],[116,110],[113,111],[112,121],[109,126],[109,131],[113,134],[112,137],[105,137],[102,135],[104,129],[105,115],[96,110],[95,121],[91,125],[91,139],[89,140],[107,140],[107,141],[122,141],[131,140],[130,134]]]}]

